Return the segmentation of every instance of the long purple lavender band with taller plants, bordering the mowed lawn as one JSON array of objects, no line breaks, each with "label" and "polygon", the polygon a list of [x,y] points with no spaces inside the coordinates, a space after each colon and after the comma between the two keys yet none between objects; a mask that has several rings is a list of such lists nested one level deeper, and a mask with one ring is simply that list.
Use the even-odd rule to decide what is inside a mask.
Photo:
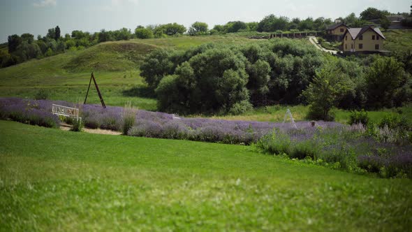
[{"label": "long purple lavender band with taller plants, bordering the mowed lawn", "polygon": [[[52,115],[52,103],[76,107],[64,101],[0,99],[0,118],[56,127],[59,117]],[[115,131],[124,129],[126,108],[109,106],[103,109],[98,105],[81,105],[80,108],[84,126]],[[335,122],[316,122],[316,126],[311,126],[309,122],[297,122],[297,129],[291,129],[290,124],[176,118],[146,110],[135,110],[132,120],[133,126],[124,131],[129,136],[244,145],[256,143],[265,152],[284,153],[297,159],[311,157],[348,171],[361,168],[368,172],[390,172],[384,176],[406,173],[412,177],[412,147],[381,143],[364,136],[362,126],[343,126]],[[348,150],[348,147],[353,149]]]}]

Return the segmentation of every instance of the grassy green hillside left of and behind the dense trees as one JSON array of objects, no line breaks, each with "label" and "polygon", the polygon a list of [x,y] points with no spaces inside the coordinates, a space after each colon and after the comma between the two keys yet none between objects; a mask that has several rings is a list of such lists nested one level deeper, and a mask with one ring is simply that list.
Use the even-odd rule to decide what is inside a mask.
[{"label": "grassy green hillside left of and behind the dense trees", "polygon": [[[81,51],[34,59],[0,69],[0,96],[34,99],[39,89],[50,99],[83,101],[94,71],[105,103],[124,106],[128,101],[145,110],[156,110],[156,100],[147,97],[139,66],[145,55],[156,48],[185,49],[203,43],[244,43],[244,36],[180,36],[147,40],[100,43]],[[100,103],[94,88],[88,103]]]}]

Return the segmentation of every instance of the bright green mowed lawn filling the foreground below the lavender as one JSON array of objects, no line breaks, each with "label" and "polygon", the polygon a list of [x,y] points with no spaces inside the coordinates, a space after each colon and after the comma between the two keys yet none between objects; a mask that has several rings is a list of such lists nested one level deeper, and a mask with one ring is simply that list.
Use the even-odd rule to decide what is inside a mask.
[{"label": "bright green mowed lawn filling the foreground below the lavender", "polygon": [[412,180],[0,121],[0,231],[409,231]]}]

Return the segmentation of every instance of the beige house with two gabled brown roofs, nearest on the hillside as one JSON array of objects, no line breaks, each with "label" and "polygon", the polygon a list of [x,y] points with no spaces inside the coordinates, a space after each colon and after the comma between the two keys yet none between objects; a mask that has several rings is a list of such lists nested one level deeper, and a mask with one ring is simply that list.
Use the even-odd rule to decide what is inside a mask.
[{"label": "beige house with two gabled brown roofs, nearest on the hillside", "polygon": [[382,52],[385,39],[378,28],[349,28],[343,35],[342,47],[344,52]]}]

